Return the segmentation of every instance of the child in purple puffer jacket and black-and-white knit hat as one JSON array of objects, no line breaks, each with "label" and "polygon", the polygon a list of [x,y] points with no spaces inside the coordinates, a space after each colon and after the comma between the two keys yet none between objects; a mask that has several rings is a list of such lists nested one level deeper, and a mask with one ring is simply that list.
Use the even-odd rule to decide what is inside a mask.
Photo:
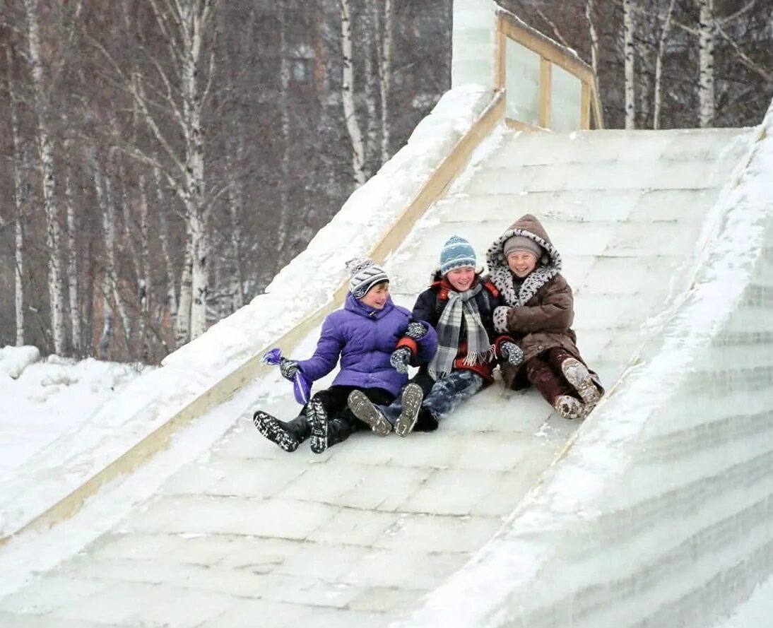
[{"label": "child in purple puffer jacket and black-and-white knit hat", "polygon": [[261,410],[253,416],[258,431],[284,451],[295,451],[311,437],[312,451],[322,453],[366,428],[347,405],[349,393],[359,390],[374,403],[389,404],[408,381],[407,364],[429,362],[438,346],[431,325],[414,321],[407,309],[393,304],[383,268],[362,258],[346,266],[346,303],[325,318],[314,355],[300,362],[282,358],[279,365],[284,378],[292,381],[299,370],[315,381],[331,372],[340,358],[339,374],[287,423]]}]

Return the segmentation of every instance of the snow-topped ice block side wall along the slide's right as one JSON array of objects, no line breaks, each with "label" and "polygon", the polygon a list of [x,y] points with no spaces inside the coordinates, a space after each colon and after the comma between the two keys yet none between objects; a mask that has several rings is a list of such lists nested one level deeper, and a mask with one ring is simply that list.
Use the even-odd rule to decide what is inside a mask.
[{"label": "snow-topped ice block side wall along the slide's right", "polygon": [[773,104],[690,289],[502,531],[400,626],[704,626],[773,571]]}]

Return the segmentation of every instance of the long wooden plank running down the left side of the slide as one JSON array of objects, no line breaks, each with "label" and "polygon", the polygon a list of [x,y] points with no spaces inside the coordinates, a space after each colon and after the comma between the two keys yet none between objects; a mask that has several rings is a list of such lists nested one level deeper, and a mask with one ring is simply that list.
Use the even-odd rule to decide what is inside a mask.
[{"label": "long wooden plank running down the left side of the slide", "polygon": [[[407,236],[407,233],[410,232],[410,229],[413,228],[417,219],[421,218],[424,212],[448,189],[462,168],[467,165],[469,158],[472,156],[472,151],[492,131],[495,125],[502,120],[504,115],[504,95],[502,92],[495,92],[489,107],[486,107],[472,128],[459,139],[454,148],[451,149],[446,158],[441,161],[438,168],[427,179],[427,182],[425,182],[400,218],[390,226],[390,229],[387,230],[380,242],[373,247],[373,250],[369,253],[373,260],[383,262],[386,256],[400,245],[405,236]],[[97,493],[104,484],[120,475],[127,474],[145,462],[145,460],[154,456],[155,453],[164,450],[169,446],[172,435],[178,429],[188,425],[197,417],[202,416],[215,406],[230,399],[247,382],[252,382],[255,378],[264,375],[270,368],[273,368],[261,362],[261,357],[264,353],[268,349],[280,345],[286,351],[292,351],[312,329],[322,324],[325,316],[343,303],[347,292],[348,282],[345,281],[335,291],[332,300],[327,304],[318,308],[317,311],[295,325],[294,328],[283,334],[280,338],[271,341],[270,345],[261,348],[260,351],[257,351],[256,355],[226,375],[220,382],[213,385],[211,389],[203,392],[190,402],[188,406],[179,410],[166,423],[159,426],[148,436],[145,436],[139,443],[121,454],[116,460],[108,464],[107,467],[98,471],[94,476],[77,487],[77,489],[67,494],[56,504],[53,504],[43,514],[39,514],[19,530],[0,538],[0,547],[5,545],[11,538],[23,532],[49,528],[59,521],[72,517],[83,506],[83,502]]]}]

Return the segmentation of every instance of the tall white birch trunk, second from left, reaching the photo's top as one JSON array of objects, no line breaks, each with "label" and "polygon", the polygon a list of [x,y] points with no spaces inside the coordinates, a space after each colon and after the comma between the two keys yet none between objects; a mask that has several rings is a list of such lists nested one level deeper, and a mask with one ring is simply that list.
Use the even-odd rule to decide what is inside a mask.
[{"label": "tall white birch trunk, second from left, reaching the photo's top", "polygon": [[51,335],[54,353],[65,349],[64,290],[60,250],[59,207],[56,203],[56,170],[53,161],[53,140],[49,130],[49,107],[43,77],[40,47],[40,27],[36,0],[24,0],[27,19],[29,63],[32,68],[32,91],[37,115],[37,149],[43,175],[43,207],[46,212],[46,248],[48,249],[48,284],[51,307]]}]

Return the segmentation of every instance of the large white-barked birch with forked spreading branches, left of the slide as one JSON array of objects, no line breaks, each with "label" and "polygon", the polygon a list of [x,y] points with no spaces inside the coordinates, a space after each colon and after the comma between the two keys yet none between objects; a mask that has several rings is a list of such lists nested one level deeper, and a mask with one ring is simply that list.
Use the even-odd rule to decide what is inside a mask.
[{"label": "large white-barked birch with forked spreading branches, left of the slide", "polygon": [[[162,4],[163,2],[163,4]],[[209,216],[211,198],[206,185],[206,152],[203,109],[212,85],[215,68],[213,41],[214,11],[219,0],[148,0],[156,25],[162,33],[168,58],[165,68],[155,54],[148,63],[154,77],[138,71],[121,69],[106,46],[97,47],[110,60],[131,93],[141,117],[163,151],[171,168],[159,164],[138,147],[130,154],[156,167],[182,201],[186,219],[186,260],[180,282],[177,312],[177,341],[184,344],[206,331],[206,300],[209,294]],[[209,54],[207,54],[209,52]],[[147,83],[147,87],[146,87]],[[177,127],[162,120],[168,112]],[[182,135],[182,148],[176,148],[175,137]]]}]

